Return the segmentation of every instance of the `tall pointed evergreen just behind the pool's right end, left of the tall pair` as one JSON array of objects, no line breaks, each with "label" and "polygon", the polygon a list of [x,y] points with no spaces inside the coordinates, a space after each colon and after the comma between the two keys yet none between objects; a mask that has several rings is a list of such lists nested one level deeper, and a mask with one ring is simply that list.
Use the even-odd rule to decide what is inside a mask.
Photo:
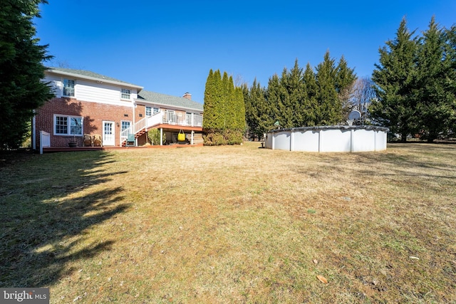
[{"label": "tall pointed evergreen just behind the pool's right end, left of the tall pair", "polygon": [[400,22],[394,40],[379,49],[380,63],[375,64],[372,79],[378,100],[373,100],[370,112],[375,122],[399,133],[401,140],[417,131],[415,92],[417,39],[408,31],[407,22]]}]

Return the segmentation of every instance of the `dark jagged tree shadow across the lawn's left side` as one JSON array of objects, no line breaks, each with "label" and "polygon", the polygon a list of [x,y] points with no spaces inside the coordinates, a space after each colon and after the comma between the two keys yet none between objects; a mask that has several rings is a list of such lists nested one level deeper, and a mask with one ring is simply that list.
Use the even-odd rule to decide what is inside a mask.
[{"label": "dark jagged tree shadow across the lawn's left side", "polygon": [[0,287],[51,285],[74,271],[68,263],[110,250],[113,240],[86,236],[130,206],[123,187],[99,187],[125,173],[106,171],[110,162],[105,152],[64,152],[0,169]]}]

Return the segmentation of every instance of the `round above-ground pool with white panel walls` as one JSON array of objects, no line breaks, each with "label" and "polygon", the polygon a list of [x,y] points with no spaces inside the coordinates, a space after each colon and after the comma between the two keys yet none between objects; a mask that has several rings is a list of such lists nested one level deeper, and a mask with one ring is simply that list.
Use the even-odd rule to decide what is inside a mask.
[{"label": "round above-ground pool with white panel walls", "polygon": [[265,147],[305,152],[368,152],[386,150],[387,127],[331,125],[294,127],[266,133]]}]

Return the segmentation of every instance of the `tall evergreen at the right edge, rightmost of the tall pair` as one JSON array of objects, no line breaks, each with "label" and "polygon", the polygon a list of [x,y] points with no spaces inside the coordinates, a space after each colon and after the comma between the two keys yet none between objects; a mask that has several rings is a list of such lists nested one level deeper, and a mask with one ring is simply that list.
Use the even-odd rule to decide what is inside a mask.
[{"label": "tall evergreen at the right edge, rightmost of the tall pair", "polygon": [[[418,46],[418,121],[425,138],[432,142],[451,128],[456,105],[451,92],[451,58],[445,58],[445,33],[432,17]],[[454,78],[453,78],[454,82]]]}]

